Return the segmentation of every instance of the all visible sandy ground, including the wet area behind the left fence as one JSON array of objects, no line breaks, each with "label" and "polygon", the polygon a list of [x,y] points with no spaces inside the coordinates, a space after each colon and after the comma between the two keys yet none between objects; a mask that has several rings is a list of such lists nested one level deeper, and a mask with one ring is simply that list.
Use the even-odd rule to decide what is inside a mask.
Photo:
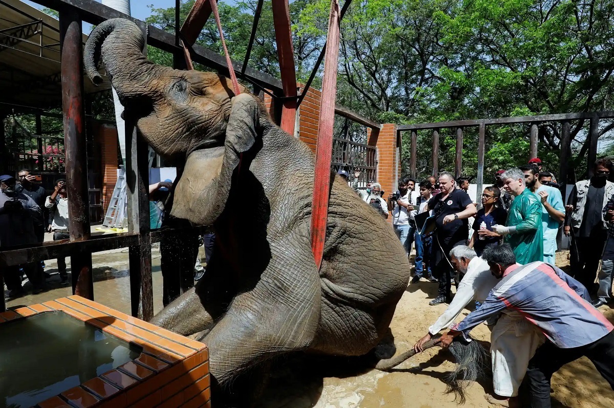
[{"label": "all visible sandy ground, including the wet area behind the left fence", "polygon": [[[204,260],[204,255],[201,253]],[[557,256],[561,267],[569,264],[567,253]],[[67,260],[67,263],[69,261]],[[160,253],[152,251],[155,311],[161,309]],[[7,307],[34,304],[68,296],[69,289],[59,286],[55,260],[45,261],[52,272],[50,290],[7,303]],[[95,300],[130,314],[130,279],[127,250],[93,255]],[[27,285],[26,285],[27,288]],[[429,306],[437,292],[437,283],[422,280],[410,285],[398,303],[391,323],[397,353],[408,350],[424,336],[427,328],[446,309],[446,305]],[[601,312],[614,321],[614,310],[602,306]],[[464,311],[464,315],[469,310]],[[460,320],[460,319],[459,319]],[[472,335],[487,342],[489,329],[480,325]],[[372,366],[372,365],[371,365]],[[453,395],[446,395],[443,377],[454,367],[451,355],[432,348],[400,364],[392,372],[369,369],[359,358],[330,358],[295,355],[274,363],[273,374],[264,391],[263,408],[448,408],[457,407]],[[257,377],[256,381],[260,381]],[[564,366],[553,377],[553,407],[614,408],[614,391],[599,375],[593,364],[581,358]],[[494,407],[484,400],[492,392],[488,381],[468,387],[465,407]]]}]

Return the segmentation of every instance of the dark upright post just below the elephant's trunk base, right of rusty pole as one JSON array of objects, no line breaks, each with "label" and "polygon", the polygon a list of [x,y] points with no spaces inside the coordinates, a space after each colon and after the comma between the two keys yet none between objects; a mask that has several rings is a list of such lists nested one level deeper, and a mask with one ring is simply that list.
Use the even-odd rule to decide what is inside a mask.
[{"label": "dark upright post just below the elephant's trunk base, right of rusty pole", "polygon": [[[144,26],[139,27],[145,32]],[[144,47],[145,52],[147,45]],[[150,320],[153,317],[153,283],[149,228],[149,147],[138,135],[136,123],[129,120],[125,123],[128,231],[139,234],[139,244],[128,248],[131,314]]]}]

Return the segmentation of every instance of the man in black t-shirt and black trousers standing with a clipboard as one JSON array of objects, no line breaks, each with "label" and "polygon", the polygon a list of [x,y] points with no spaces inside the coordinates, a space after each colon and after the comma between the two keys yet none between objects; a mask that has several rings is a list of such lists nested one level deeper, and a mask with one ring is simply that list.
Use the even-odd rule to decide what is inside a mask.
[{"label": "man in black t-shirt and black trousers standing with a clipboard", "polygon": [[431,306],[451,301],[451,282],[453,267],[448,255],[456,245],[467,244],[469,236],[468,218],[476,215],[477,210],[471,198],[463,190],[456,188],[454,176],[447,172],[439,175],[441,192],[429,200],[425,211],[433,210],[437,217],[433,237],[433,272],[439,281],[437,298],[430,301]]}]

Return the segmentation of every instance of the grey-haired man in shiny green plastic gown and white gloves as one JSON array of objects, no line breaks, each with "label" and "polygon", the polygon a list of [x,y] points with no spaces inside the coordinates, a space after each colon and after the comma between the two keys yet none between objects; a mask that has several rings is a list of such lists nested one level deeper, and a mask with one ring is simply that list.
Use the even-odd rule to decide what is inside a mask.
[{"label": "grey-haired man in shiny green plastic gown and white gloves", "polygon": [[525,174],[518,168],[501,175],[503,188],[516,198],[511,202],[505,226],[494,225],[495,233],[505,237],[516,261],[527,264],[543,260],[542,203],[525,185]]}]

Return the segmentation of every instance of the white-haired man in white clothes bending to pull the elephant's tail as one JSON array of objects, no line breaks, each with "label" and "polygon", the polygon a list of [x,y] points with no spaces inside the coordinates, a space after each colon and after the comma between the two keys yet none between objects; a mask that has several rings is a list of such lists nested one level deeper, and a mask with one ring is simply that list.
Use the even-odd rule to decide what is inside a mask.
[{"label": "white-haired man in white clothes bending to pull the elephant's tail", "polygon": [[[476,256],[473,248],[459,245],[452,248],[450,258],[454,269],[464,274],[454,299],[445,312],[429,327],[429,332],[414,345],[416,352],[432,336],[448,328],[472,301],[484,302],[492,288],[499,283],[491,274],[488,263]],[[516,406],[518,388],[523,382],[530,358],[544,340],[543,334],[522,315],[504,310],[491,333],[492,383],[495,395],[487,395],[492,404]]]}]

